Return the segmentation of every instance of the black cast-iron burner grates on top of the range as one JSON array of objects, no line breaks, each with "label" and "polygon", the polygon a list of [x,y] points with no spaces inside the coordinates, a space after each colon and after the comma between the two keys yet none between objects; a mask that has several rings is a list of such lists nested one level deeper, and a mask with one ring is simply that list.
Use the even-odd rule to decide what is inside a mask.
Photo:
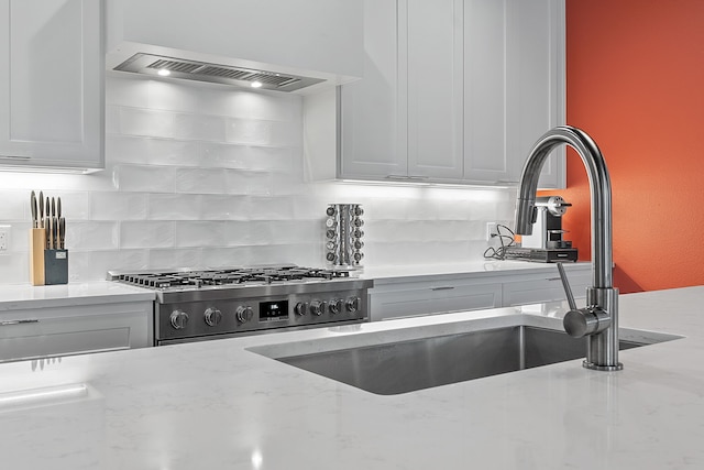
[{"label": "black cast-iron burner grates on top of the range", "polygon": [[297,265],[235,267],[223,270],[148,272],[118,274],[113,280],[155,289],[233,284],[273,284],[349,277],[349,271],[300,267]]}]

